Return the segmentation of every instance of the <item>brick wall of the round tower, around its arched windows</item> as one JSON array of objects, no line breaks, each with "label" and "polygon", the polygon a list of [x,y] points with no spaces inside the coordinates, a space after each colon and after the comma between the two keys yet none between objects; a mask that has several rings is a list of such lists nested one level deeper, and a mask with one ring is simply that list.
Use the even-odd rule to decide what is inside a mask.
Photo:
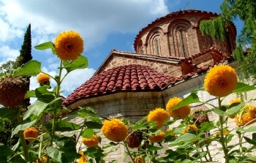
[{"label": "brick wall of the round tower, around its arched windows", "polygon": [[[214,47],[221,50],[223,53],[230,53],[230,48],[227,46],[226,41],[219,41],[217,39],[211,38],[212,45],[208,42],[208,38],[200,32],[199,24],[201,17],[187,17],[180,18],[175,20],[167,20],[163,23],[159,23],[155,26],[152,26],[152,29],[148,29],[145,34],[141,35],[140,39],[140,48],[138,48],[138,53],[140,53],[141,47],[143,47],[143,53],[155,54],[154,51],[154,42],[151,38],[154,37],[154,34],[159,33],[160,35],[160,56],[181,56],[181,48],[179,45],[178,33],[176,30],[184,26],[186,29],[186,41],[187,41],[187,50],[189,56],[195,55],[197,53],[203,52],[204,50]],[[230,42],[235,42],[235,37],[230,37]]]}]

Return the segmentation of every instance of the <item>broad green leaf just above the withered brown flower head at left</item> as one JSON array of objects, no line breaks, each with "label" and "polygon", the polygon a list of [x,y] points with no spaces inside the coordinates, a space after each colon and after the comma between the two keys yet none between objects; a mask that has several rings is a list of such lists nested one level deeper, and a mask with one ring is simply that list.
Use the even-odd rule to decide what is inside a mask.
[{"label": "broad green leaf just above the withered brown flower head at left", "polygon": [[41,71],[41,62],[28,61],[23,67],[16,69],[14,76],[37,76]]}]

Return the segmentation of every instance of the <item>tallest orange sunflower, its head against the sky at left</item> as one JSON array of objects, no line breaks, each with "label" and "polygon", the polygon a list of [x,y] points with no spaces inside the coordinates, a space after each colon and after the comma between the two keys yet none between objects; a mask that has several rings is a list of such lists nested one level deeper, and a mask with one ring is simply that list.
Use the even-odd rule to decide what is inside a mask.
[{"label": "tallest orange sunflower, its head against the sky at left", "polygon": [[56,37],[56,55],[63,61],[72,61],[83,53],[83,39],[75,31],[64,31]]}]

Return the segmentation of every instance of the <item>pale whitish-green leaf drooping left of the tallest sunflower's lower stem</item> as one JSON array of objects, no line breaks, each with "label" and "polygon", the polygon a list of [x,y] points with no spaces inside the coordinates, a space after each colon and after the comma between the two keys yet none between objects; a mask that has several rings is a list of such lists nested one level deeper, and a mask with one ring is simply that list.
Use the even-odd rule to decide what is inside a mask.
[{"label": "pale whitish-green leaf drooping left of the tallest sunflower's lower stem", "polygon": [[23,118],[26,119],[26,118],[29,118],[29,116],[31,114],[33,115],[40,115],[44,110],[45,108],[48,107],[48,103],[45,103],[45,102],[42,102],[42,101],[35,101],[33,102],[31,105],[29,105],[29,110],[26,111],[26,113],[23,115]]}]

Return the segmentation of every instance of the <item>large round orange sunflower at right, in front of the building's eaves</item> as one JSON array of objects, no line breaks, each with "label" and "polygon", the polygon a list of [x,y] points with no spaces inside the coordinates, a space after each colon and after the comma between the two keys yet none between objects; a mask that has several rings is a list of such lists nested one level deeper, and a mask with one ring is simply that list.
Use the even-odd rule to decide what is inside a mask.
[{"label": "large round orange sunflower at right, in front of the building's eaves", "polygon": [[207,73],[204,86],[212,96],[222,97],[231,94],[237,82],[235,69],[227,65],[216,65]]}]

